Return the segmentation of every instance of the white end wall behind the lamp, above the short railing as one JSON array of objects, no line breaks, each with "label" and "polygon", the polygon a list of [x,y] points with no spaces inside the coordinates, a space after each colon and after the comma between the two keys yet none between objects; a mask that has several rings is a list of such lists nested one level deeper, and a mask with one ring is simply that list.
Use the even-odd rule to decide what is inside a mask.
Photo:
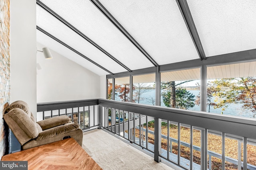
[{"label": "white end wall behind the lamp, above the short railing", "polygon": [[[43,45],[37,43],[42,51]],[[50,47],[49,47],[50,49]],[[100,98],[100,76],[50,50],[53,59],[37,52],[37,102],[59,102]]]}]

